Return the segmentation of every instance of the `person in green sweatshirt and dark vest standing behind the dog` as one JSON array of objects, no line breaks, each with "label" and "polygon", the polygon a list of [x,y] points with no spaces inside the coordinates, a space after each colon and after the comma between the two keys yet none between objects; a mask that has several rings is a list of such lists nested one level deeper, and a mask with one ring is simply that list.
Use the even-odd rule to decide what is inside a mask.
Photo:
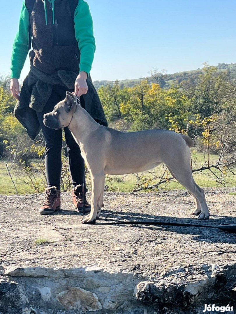
[{"label": "person in green sweatshirt and dark vest standing behind the dog", "polygon": [[[21,90],[19,81],[26,56],[31,69]],[[12,95],[18,100],[14,113],[31,139],[42,129],[45,139],[46,195],[40,214],[60,209],[62,130],[43,124],[43,115],[65,99],[66,91],[81,96],[81,106],[100,123],[107,121],[90,71],[95,52],[93,20],[83,0],[25,0],[11,57]],[[83,208],[84,160],[68,127],[65,127],[73,205]],[[91,209],[86,200],[86,212]]]}]

